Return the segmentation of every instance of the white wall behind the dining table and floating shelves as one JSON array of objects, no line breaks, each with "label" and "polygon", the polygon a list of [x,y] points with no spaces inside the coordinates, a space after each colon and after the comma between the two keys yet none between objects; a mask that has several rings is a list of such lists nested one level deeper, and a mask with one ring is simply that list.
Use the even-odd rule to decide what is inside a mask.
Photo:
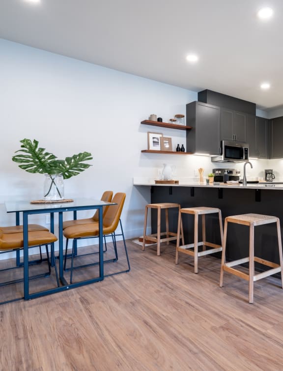
[{"label": "white wall behind the dining table and floating shelves", "polygon": [[[147,187],[132,185],[133,176],[155,177],[162,163],[174,164],[176,177],[194,176],[199,167],[205,175],[221,167],[208,157],[141,153],[147,148],[147,131],[172,137],[173,147],[185,144],[185,131],[140,122],[150,114],[164,121],[185,114],[186,104],[197,100],[196,92],[3,39],[0,71],[2,226],[15,222],[5,211],[5,200],[43,196],[44,176],[23,171],[11,160],[23,138],[38,140],[59,158],[91,152],[93,166],[65,180],[65,197],[100,198],[108,189],[125,192],[122,222],[127,238],[142,234],[144,205],[150,200]],[[251,175],[263,174],[266,167],[266,161],[258,161]],[[34,221],[45,223],[42,216]]]}]

